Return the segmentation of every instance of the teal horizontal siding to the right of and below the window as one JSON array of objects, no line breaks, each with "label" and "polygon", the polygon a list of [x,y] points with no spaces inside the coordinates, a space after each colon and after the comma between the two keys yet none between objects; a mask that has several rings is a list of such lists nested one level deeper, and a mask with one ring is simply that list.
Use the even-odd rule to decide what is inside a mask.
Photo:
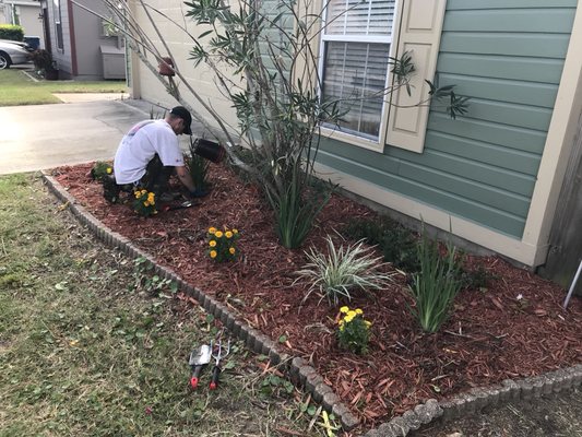
[{"label": "teal horizontal siding to the right of and below the window", "polygon": [[471,96],[467,115],[433,105],[420,154],[324,140],[319,161],[521,238],[577,3],[449,0],[436,81]]}]

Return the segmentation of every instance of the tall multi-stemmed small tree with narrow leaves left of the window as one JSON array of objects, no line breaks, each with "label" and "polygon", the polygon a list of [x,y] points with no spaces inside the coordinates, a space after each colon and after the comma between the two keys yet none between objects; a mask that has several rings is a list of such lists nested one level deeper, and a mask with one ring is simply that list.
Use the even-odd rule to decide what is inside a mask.
[{"label": "tall multi-stemmed small tree with narrow leaves left of the window", "polygon": [[[284,1],[276,10],[266,10],[262,0],[239,0],[236,9],[223,0],[186,1],[185,15],[193,21],[197,29],[204,29],[194,36],[186,24],[136,0],[165,54],[169,54],[170,64],[163,59],[161,48],[153,44],[126,2],[105,0],[105,3],[116,19],[116,27],[128,37],[132,50],[165,84],[168,93],[211,130],[207,120],[183,101],[175,80],[157,73],[157,63],[174,70],[180,86],[194,96],[197,104],[215,119],[223,137],[234,144],[227,121],[181,74],[181,60],[178,62],[173,56],[159,31],[159,20],[171,23],[191,40],[190,59],[195,66],[204,63],[214,72],[219,91],[236,109],[238,130],[235,137],[251,152],[250,161],[242,162],[236,150],[228,149],[230,157],[263,188],[275,213],[281,243],[288,248],[301,245],[331,192],[330,186],[316,189],[313,180],[319,129],[322,122],[337,126],[345,114],[340,109],[340,99],[324,99],[321,95],[318,55],[312,44],[322,32],[322,15],[312,13],[309,2],[299,8],[295,1]],[[409,92],[409,76],[414,73],[411,55],[403,54],[390,62],[396,81],[383,93],[390,94],[401,86]],[[431,94],[438,98],[450,97],[448,110],[453,117],[464,111],[465,101],[456,97],[452,88],[431,84]],[[429,101],[427,96],[419,105]]]}]

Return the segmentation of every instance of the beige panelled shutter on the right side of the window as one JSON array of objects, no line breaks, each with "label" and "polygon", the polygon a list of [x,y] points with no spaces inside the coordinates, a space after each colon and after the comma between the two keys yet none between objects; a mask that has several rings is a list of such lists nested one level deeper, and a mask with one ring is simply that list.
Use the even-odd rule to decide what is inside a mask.
[{"label": "beige panelled shutter on the right side of the window", "polygon": [[[401,3],[402,4],[402,3]],[[437,69],[437,57],[444,17],[447,0],[404,0],[396,23],[401,23],[397,35],[395,57],[408,51],[412,55],[416,72],[411,79],[412,95],[403,87],[392,95],[392,103],[397,106],[411,106],[428,97],[425,79],[432,81]],[[423,152],[428,121],[427,106],[391,106],[388,120],[385,143],[413,152]]]}]

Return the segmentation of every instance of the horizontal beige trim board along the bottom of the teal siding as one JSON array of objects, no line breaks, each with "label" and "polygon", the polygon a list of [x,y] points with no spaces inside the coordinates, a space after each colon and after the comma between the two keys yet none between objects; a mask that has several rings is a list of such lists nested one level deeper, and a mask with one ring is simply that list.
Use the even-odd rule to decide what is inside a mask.
[{"label": "horizontal beige trim board along the bottom of the teal siding", "polygon": [[413,218],[421,220],[442,231],[449,232],[452,229],[452,233],[461,238],[501,253],[523,264],[532,267],[539,264],[537,257],[539,248],[520,239],[509,237],[474,222],[451,215],[446,211],[396,194],[354,176],[336,172],[325,165],[316,164],[316,172],[322,179],[331,179],[332,182],[338,184],[341,188],[372,200],[383,206],[406,214]]}]

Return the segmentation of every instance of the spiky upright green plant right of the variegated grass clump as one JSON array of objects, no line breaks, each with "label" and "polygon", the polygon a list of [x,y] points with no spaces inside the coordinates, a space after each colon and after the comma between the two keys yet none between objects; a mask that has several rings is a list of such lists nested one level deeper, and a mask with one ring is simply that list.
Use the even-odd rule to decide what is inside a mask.
[{"label": "spiky upright green plant right of the variegated grass clump", "polygon": [[409,286],[416,304],[411,311],[424,331],[437,332],[449,317],[461,290],[461,264],[456,260],[454,246],[449,243],[446,256],[441,257],[438,243],[430,240],[424,231],[418,245],[418,260],[420,271],[414,274]]}]

